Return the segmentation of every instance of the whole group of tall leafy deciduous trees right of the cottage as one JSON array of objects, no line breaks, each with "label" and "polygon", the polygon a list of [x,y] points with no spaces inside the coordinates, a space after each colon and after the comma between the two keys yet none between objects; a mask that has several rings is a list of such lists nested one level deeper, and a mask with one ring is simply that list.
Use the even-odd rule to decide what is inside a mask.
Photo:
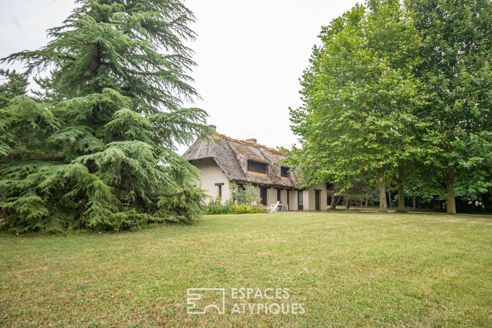
[{"label": "whole group of tall leafy deciduous trees right of the cottage", "polygon": [[[491,190],[491,2],[369,0],[323,27],[290,109],[302,148],[287,160],[306,185],[372,177],[440,197]],[[417,181],[417,182],[416,182]],[[415,194],[414,194],[415,195]]]}]

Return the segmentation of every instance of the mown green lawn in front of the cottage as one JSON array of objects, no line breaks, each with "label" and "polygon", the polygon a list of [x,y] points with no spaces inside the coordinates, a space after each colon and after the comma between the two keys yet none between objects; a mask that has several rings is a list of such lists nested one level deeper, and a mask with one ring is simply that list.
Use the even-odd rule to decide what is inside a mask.
[{"label": "mown green lawn in front of the cottage", "polygon": [[[2,235],[0,326],[491,327],[491,236],[487,216],[370,211]],[[188,315],[194,287],[289,288],[306,313],[231,314],[229,292],[226,314]]]}]

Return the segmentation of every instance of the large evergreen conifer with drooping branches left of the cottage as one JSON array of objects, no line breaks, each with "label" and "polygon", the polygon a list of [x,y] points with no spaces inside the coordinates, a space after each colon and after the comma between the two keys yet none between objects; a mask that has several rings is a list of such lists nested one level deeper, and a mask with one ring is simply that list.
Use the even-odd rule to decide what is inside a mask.
[{"label": "large evergreen conifer with drooping branches left of the cottage", "polygon": [[[11,92],[0,111],[4,228],[134,229],[192,220],[203,192],[176,153],[207,132],[198,94],[193,14],[179,0],[79,0],[53,41],[3,61],[25,62],[37,96]],[[8,92],[7,92],[8,93]]]}]

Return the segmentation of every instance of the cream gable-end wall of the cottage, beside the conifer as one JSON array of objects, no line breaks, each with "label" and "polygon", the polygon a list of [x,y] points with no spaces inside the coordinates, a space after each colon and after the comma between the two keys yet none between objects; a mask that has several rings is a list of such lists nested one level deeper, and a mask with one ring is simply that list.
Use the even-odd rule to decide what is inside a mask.
[{"label": "cream gable-end wall of the cottage, beside the conifer", "polygon": [[191,164],[201,171],[201,181],[198,186],[206,191],[207,195],[215,198],[218,196],[218,186],[215,183],[224,183],[222,185],[222,203],[231,197],[229,190],[229,179],[222,172],[213,158],[194,159]]}]

